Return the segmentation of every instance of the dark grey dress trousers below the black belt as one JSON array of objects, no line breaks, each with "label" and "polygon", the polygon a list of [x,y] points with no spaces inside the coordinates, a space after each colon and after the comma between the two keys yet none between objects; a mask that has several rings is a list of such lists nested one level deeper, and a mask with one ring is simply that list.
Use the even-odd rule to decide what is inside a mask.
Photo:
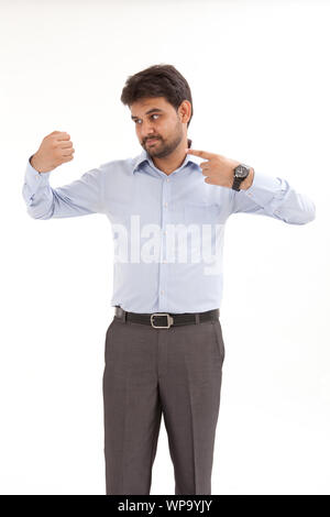
[{"label": "dark grey dress trousers below the black belt", "polygon": [[219,319],[154,329],[113,319],[103,373],[107,495],[147,495],[162,414],[175,494],[211,494],[224,344]]}]

